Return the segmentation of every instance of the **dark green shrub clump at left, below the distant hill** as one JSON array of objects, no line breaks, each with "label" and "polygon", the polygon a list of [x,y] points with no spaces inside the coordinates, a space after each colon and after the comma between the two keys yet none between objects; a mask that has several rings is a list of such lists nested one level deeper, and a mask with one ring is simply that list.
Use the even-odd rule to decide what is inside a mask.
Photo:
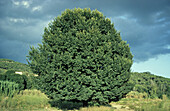
[{"label": "dark green shrub clump at left, below the distant hill", "polygon": [[26,75],[15,74],[14,70],[8,70],[5,74],[0,74],[1,81],[15,82],[19,85],[19,90],[31,88],[31,83]]}]

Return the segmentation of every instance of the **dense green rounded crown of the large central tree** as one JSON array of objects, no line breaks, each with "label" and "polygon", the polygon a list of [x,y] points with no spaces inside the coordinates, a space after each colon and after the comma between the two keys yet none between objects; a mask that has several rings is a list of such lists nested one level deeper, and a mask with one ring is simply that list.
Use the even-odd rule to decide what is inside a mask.
[{"label": "dense green rounded crown of the large central tree", "polygon": [[108,104],[127,94],[132,54],[108,18],[90,9],[67,9],[45,28],[28,61],[49,97]]}]

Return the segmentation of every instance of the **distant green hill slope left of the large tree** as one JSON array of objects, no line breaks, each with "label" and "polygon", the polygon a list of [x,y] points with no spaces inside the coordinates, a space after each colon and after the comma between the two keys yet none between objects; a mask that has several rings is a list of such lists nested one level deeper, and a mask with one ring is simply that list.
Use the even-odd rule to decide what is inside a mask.
[{"label": "distant green hill slope left of the large tree", "polygon": [[5,70],[15,70],[15,71],[26,71],[26,72],[31,72],[31,69],[28,65],[22,64],[19,62],[15,62],[10,59],[0,59],[0,73],[1,71]]}]

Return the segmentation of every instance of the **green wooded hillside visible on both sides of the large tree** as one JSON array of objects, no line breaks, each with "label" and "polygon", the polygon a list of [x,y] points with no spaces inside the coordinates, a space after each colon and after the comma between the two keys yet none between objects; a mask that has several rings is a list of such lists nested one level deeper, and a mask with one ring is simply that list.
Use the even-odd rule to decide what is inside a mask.
[{"label": "green wooded hillside visible on both sides of the large tree", "polygon": [[[0,59],[0,74],[11,69],[27,74],[32,73],[27,64],[10,59]],[[150,72],[133,72],[130,81],[134,84],[133,91],[146,92],[150,98],[162,98],[162,95],[167,95],[170,98],[170,78],[156,76]]]}]

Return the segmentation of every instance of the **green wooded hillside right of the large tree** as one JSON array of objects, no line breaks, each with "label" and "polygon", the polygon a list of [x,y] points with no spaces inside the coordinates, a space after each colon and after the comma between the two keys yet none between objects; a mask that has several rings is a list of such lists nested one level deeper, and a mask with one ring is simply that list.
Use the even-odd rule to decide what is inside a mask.
[{"label": "green wooded hillside right of the large tree", "polygon": [[133,90],[146,92],[150,98],[162,98],[167,95],[170,98],[170,79],[153,75],[149,72],[132,73],[131,81],[135,84]]}]

